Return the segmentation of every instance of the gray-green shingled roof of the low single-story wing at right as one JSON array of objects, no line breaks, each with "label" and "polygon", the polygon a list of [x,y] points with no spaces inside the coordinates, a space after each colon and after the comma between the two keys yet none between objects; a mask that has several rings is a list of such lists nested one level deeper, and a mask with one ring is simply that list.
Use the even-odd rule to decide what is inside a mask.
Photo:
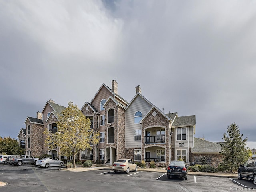
[{"label": "gray-green shingled roof of the low single-story wing at right", "polygon": [[219,154],[220,150],[220,144],[194,137],[194,147],[191,148],[191,153]]}]

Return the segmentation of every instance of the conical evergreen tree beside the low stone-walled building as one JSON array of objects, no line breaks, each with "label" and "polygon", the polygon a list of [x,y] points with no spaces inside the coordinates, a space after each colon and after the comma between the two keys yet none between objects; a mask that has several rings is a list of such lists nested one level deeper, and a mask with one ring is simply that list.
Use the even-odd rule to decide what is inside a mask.
[{"label": "conical evergreen tree beside the low stone-walled building", "polygon": [[223,155],[222,166],[226,166],[233,171],[240,164],[248,159],[248,148],[246,147],[247,137],[243,140],[239,127],[234,123],[230,124],[227,132],[223,134],[224,143],[220,143],[220,154]]}]

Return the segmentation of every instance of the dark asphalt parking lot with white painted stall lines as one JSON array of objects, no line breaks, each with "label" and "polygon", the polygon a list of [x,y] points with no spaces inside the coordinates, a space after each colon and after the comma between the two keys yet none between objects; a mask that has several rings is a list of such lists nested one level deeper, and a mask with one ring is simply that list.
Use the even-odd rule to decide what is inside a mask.
[{"label": "dark asphalt parking lot with white painted stall lines", "polygon": [[188,180],[168,179],[160,172],[137,171],[125,174],[111,170],[72,172],[60,167],[39,168],[35,165],[0,165],[0,181],[9,192],[115,192],[115,191],[248,191],[256,190],[250,180],[188,175]]}]

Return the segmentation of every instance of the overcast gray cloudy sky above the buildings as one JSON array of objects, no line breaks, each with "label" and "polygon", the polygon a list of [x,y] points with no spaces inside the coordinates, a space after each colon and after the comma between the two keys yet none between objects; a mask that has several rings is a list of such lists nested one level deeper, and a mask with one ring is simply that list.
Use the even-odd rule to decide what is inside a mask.
[{"label": "overcast gray cloudy sky above the buildings", "polygon": [[0,0],[0,136],[17,138],[52,98],[79,108],[102,83],[164,112],[196,115],[196,137],[236,123],[256,148],[256,1]]}]

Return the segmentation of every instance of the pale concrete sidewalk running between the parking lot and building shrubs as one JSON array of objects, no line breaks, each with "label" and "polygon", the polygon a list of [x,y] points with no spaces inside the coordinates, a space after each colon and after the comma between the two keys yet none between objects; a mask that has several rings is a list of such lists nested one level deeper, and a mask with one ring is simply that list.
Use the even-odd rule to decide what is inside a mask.
[{"label": "pale concrete sidewalk running between the parking lot and building shrubs", "polygon": [[[73,172],[81,172],[81,171],[91,171],[91,170],[99,170],[99,169],[106,169],[106,170],[112,170],[111,165],[101,165],[101,166],[92,166],[92,167],[76,167],[76,168],[61,168],[61,170],[65,171],[73,171]],[[160,172],[160,173],[166,173],[166,170],[164,169],[153,169],[153,168],[146,168],[141,169],[138,168],[138,171],[149,171],[149,172]],[[189,175],[199,175],[199,176],[214,176],[214,177],[228,177],[228,178],[237,178],[237,173],[223,173],[223,172],[217,172],[217,173],[203,173],[203,172],[192,172],[188,171]]]}]

